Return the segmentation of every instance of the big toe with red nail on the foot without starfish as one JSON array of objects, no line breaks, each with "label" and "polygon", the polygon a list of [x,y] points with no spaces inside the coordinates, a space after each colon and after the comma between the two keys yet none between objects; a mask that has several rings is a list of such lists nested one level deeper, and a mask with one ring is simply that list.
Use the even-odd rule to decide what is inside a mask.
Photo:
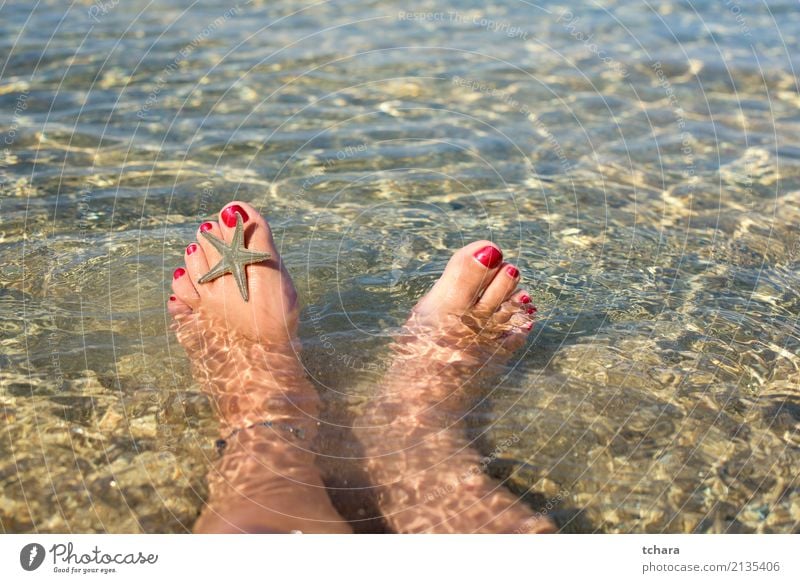
[{"label": "big toe with red nail on the foot without starfish", "polygon": [[494,243],[470,243],[453,255],[442,277],[417,305],[417,312],[463,314],[475,305],[502,262],[503,253]]}]

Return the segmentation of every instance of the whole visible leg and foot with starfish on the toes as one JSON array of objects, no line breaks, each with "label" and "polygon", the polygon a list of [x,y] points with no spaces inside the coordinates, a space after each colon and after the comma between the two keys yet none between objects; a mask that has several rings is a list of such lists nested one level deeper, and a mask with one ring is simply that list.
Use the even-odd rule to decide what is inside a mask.
[{"label": "whole visible leg and foot with starfish on the toes", "polygon": [[[199,284],[220,255],[201,232],[230,243],[236,216],[248,249],[269,261],[248,265],[245,302],[231,276]],[[312,442],[319,399],[300,364],[297,293],[267,222],[252,206],[226,206],[200,226],[175,271],[168,302],[195,379],[220,417],[224,449],[209,472],[209,500],[196,532],[349,532],[333,508]]]}]

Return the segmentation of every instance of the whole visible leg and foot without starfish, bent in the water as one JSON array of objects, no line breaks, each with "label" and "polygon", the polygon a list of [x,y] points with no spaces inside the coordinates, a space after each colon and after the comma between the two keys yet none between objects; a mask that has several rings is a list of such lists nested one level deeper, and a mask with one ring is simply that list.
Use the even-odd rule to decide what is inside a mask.
[{"label": "whole visible leg and foot without starfish, bent in the water", "polygon": [[397,532],[553,532],[481,466],[464,416],[470,385],[522,346],[535,308],[519,270],[478,241],[459,250],[412,312],[394,363],[356,428],[378,503]]}]

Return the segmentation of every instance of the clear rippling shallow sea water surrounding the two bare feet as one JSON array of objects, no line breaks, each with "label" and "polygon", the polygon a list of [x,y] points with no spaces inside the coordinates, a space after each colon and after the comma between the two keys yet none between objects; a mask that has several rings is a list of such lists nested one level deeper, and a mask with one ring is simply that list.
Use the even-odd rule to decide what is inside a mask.
[{"label": "clear rippling shallow sea water surrounding the two bare feet", "polygon": [[800,14],[604,5],[4,3],[2,530],[191,529],[216,426],[164,305],[239,198],[335,492],[392,329],[488,238],[539,308],[470,416],[494,475],[567,532],[798,531]]}]

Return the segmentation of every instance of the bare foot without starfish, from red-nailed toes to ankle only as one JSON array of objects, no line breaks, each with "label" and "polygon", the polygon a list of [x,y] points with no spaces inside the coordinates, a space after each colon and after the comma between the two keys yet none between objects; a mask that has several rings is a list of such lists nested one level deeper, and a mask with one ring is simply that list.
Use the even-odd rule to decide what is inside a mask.
[{"label": "bare foot without starfish, from red-nailed toes to ankle only", "polygon": [[453,255],[393,346],[395,369],[436,380],[419,394],[403,390],[406,408],[416,403],[420,413],[460,415],[472,381],[495,371],[525,343],[536,308],[530,295],[517,289],[519,281],[519,269],[504,262],[489,241]]}]

